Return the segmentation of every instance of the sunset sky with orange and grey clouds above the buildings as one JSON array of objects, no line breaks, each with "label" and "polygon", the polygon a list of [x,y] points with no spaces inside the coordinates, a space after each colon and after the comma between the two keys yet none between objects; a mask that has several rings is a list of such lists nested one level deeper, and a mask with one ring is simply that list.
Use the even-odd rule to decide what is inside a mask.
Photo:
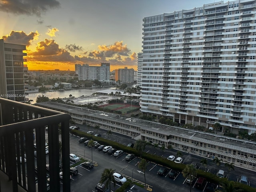
[{"label": "sunset sky with orange and grey clouds above the buildings", "polygon": [[110,71],[137,70],[143,18],[212,2],[0,0],[0,38],[26,45],[28,70],[74,71],[75,64],[101,63],[110,63]]}]

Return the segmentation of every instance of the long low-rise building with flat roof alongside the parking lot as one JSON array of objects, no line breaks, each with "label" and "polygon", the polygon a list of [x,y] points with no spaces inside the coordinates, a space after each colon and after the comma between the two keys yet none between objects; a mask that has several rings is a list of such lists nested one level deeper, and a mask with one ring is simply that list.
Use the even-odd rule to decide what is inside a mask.
[{"label": "long low-rise building with flat roof alongside the parking lot", "polygon": [[100,126],[131,137],[141,136],[142,140],[152,144],[166,148],[171,145],[176,150],[202,158],[218,157],[223,162],[233,162],[235,166],[256,171],[256,142],[66,104],[42,102],[36,105],[70,114],[78,124]]}]

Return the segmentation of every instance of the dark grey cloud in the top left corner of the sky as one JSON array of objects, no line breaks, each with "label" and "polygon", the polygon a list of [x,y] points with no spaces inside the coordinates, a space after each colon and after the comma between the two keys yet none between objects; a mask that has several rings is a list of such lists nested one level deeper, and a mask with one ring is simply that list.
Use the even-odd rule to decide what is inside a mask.
[{"label": "dark grey cloud in the top left corner of the sky", "polygon": [[13,13],[16,15],[36,15],[45,14],[53,8],[59,8],[58,0],[0,0],[0,11]]}]

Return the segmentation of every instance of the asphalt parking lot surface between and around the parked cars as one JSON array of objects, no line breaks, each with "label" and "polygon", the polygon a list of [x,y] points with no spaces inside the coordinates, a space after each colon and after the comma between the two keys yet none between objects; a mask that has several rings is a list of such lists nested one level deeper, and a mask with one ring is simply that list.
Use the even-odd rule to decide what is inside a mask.
[{"label": "asphalt parking lot surface between and around the parked cars", "polygon": [[[102,138],[106,138],[109,140],[113,140],[118,142],[119,144],[127,145],[134,140],[128,136],[123,136],[120,134],[113,133],[112,136],[108,136],[104,130],[99,130],[102,134]],[[138,161],[140,161],[139,157],[134,157],[131,160],[126,160],[125,157],[127,153],[124,153],[118,157],[114,155],[109,155],[108,152],[98,151],[97,148],[90,148],[88,146],[84,146],[83,143],[78,142],[79,137],[70,134],[70,153],[77,154],[80,158],[86,158],[87,160],[93,160],[94,168],[86,169],[80,165],[76,166],[78,169],[78,175],[72,176],[71,178],[71,191],[76,192],[94,192],[96,184],[100,181],[101,174],[105,168],[115,169],[116,172],[122,174],[127,179],[133,180],[134,182],[138,182],[144,185],[144,174],[146,174],[146,186],[151,188],[153,191],[157,192],[176,192],[176,191],[185,191],[189,190],[190,185],[186,182],[186,178],[183,177],[182,173],[178,172],[178,174],[173,178],[169,178],[168,174],[171,169],[167,168],[167,171],[163,176],[157,174],[158,170],[162,167],[159,164],[155,164],[153,162],[149,162],[147,166],[147,170],[145,173],[141,172],[138,168]],[[158,156],[162,156],[167,158],[170,154],[176,156],[175,150],[165,150],[161,151],[160,149],[156,149],[153,147],[147,146],[145,152],[151,154],[157,154]],[[184,153],[183,156],[184,164],[191,164],[192,162],[197,162],[199,169],[205,170],[205,167],[200,165],[200,157],[194,156],[193,154]],[[74,162],[70,161],[70,165],[74,164]],[[218,169],[226,170],[224,165],[221,167],[216,167],[214,162],[208,160],[208,165],[206,171],[216,174]],[[236,173],[235,173],[236,172]],[[248,172],[246,170],[246,172]],[[235,168],[234,173],[230,172],[229,180],[238,180],[238,176],[241,174],[245,174],[244,170],[240,168]],[[254,174],[251,172],[250,174]],[[248,176],[248,178],[253,178]],[[198,189],[195,186],[196,180],[194,180],[192,184],[192,191],[206,191],[205,186],[208,183],[204,184],[204,188]],[[251,186],[255,186],[254,182],[251,181]],[[114,192],[117,188],[120,187],[120,184],[111,185],[111,190]],[[138,188],[138,187],[137,187]],[[144,189],[137,190],[137,188],[133,188],[134,191],[146,191]],[[130,190],[130,192],[133,191]],[[135,190],[136,189],[136,190]]]}]

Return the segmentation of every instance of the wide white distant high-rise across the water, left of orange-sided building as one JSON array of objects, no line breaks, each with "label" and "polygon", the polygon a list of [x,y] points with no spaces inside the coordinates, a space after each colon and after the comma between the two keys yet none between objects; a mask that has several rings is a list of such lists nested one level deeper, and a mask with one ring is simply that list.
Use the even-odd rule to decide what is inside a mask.
[{"label": "wide white distant high-rise across the water, left of orange-sided building", "polygon": [[78,80],[110,80],[110,63],[101,63],[101,66],[75,64],[75,70]]}]

